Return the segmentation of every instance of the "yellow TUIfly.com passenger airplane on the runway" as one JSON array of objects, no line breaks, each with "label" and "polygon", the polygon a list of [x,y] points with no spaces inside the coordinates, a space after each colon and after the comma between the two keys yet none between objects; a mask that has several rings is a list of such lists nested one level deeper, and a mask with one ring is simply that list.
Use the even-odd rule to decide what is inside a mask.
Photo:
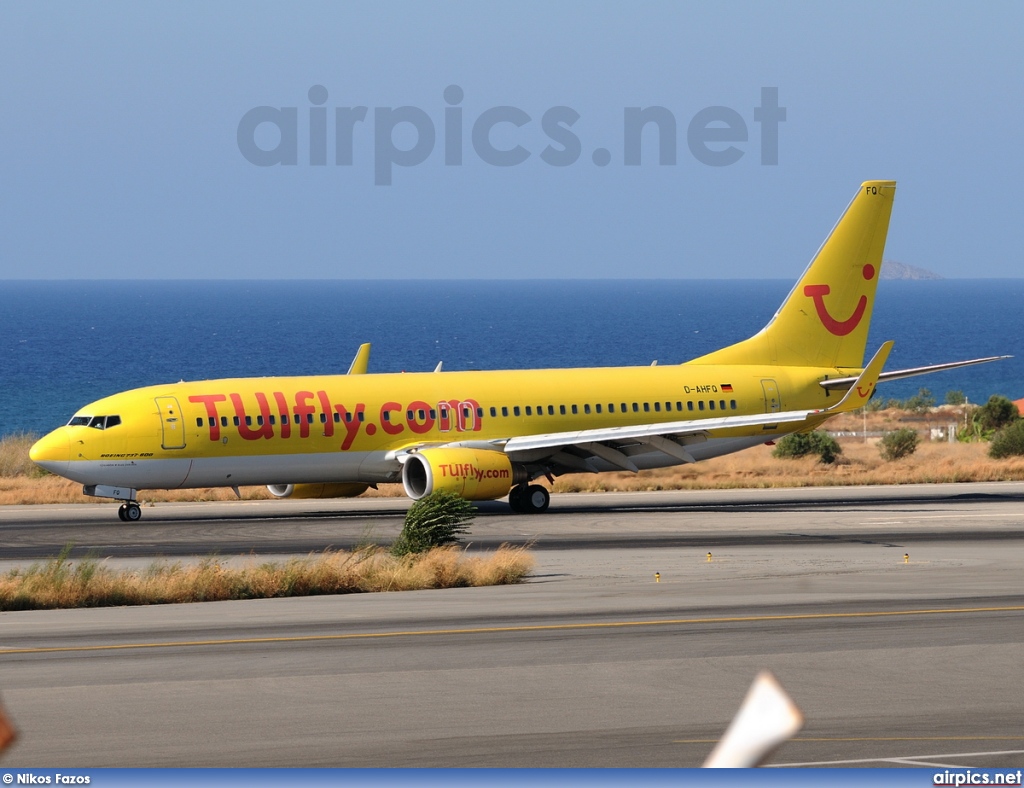
[{"label": "yellow TUIfly.com passenger airplane on the runway", "polygon": [[[86,405],[32,447],[33,462],[120,499],[138,490],[269,487],[341,497],[400,481],[420,498],[508,495],[544,512],[538,479],[640,471],[738,451],[864,405],[880,381],[999,357],[883,373],[864,366],[894,181],[868,181],[771,321],[672,366],[238,378],[148,386]],[[1001,357],[1001,356],[1000,356]]]}]

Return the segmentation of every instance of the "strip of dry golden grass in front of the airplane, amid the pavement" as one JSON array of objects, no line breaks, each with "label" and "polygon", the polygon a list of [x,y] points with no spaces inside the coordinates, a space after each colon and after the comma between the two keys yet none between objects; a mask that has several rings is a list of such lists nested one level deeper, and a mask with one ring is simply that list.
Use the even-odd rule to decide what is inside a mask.
[{"label": "strip of dry golden grass in front of the airplane, amid the pavement", "polygon": [[368,548],[239,569],[206,559],[198,565],[156,563],[123,572],[94,559],[71,561],[68,552],[44,565],[0,575],[0,611],[500,585],[521,582],[534,568],[525,548],[509,546],[480,557],[438,548],[402,559]]}]

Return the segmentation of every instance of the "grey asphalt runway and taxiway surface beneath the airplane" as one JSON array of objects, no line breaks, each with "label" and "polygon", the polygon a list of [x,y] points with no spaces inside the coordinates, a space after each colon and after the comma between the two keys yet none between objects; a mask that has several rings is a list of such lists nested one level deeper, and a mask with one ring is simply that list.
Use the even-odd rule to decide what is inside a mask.
[{"label": "grey asphalt runway and taxiway surface beneath the airplane", "polygon": [[[306,553],[406,506],[5,508],[0,558]],[[698,765],[762,668],[807,718],[773,763],[1024,763],[1024,485],[483,510],[527,583],[0,614],[4,767]]]}]

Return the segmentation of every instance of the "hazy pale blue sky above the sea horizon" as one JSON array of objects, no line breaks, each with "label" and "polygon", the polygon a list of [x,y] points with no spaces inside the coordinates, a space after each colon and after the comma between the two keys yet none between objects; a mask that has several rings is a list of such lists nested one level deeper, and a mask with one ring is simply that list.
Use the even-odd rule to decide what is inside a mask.
[{"label": "hazy pale blue sky above the sea horizon", "polygon": [[[791,278],[874,178],[899,181],[888,257],[1021,276],[1022,31],[1020,3],[5,0],[0,278]],[[777,165],[763,88],[785,107]],[[297,107],[297,164],[243,155],[259,106]],[[335,107],[352,106],[367,115],[339,165]],[[425,160],[380,185],[401,106],[435,139],[397,124],[388,144]],[[489,144],[520,164],[473,141],[514,117],[485,115],[500,106],[523,125],[497,123]],[[650,125],[628,166],[625,110],[651,106],[675,119],[676,164]],[[688,144],[713,106],[746,140],[698,154],[732,146],[732,164]],[[579,120],[549,134],[552,107]],[[287,159],[276,126],[249,137]],[[542,158],[572,161],[573,139],[574,163]]]}]

